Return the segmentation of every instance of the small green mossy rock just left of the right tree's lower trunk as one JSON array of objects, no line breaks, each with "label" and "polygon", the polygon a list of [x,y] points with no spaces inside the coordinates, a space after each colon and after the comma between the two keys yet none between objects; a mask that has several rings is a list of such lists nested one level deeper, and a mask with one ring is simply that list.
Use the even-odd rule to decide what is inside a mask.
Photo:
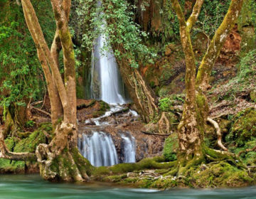
[{"label": "small green mossy rock just left of the right tree's lower trunk", "polygon": [[171,134],[164,141],[164,157],[167,161],[175,161],[177,159],[178,152],[178,135],[176,133]]}]

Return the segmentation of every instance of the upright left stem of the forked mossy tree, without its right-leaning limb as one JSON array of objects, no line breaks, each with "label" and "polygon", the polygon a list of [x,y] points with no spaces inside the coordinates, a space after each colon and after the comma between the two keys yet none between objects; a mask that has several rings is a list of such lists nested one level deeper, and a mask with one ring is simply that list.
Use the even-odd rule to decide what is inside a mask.
[{"label": "upright left stem of the forked mossy tree, without its right-leaning limb", "polygon": [[[191,159],[198,161],[203,157],[203,121],[201,121],[201,115],[198,114],[196,103],[196,60],[194,58],[190,36],[190,27],[194,23],[193,21],[196,21],[196,18],[192,20],[193,14],[191,14],[191,18],[186,22],[178,1],[171,2],[178,16],[181,45],[186,60],[186,100],[183,107],[182,119],[178,125],[178,158],[179,161],[181,161],[181,166],[185,166]],[[203,1],[198,1],[198,4],[200,4],[200,6],[198,6],[197,13],[200,11]]]}]

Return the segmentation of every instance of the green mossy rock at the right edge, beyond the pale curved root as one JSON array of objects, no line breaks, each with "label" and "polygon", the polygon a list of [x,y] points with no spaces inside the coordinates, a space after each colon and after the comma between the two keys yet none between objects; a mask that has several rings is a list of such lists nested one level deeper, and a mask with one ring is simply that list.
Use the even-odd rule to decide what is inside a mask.
[{"label": "green mossy rock at the right edge, beyond the pale curved root", "polygon": [[245,142],[253,137],[256,137],[256,111],[245,109],[236,114],[235,122],[225,140],[231,144],[235,143],[236,146],[245,146]]}]

